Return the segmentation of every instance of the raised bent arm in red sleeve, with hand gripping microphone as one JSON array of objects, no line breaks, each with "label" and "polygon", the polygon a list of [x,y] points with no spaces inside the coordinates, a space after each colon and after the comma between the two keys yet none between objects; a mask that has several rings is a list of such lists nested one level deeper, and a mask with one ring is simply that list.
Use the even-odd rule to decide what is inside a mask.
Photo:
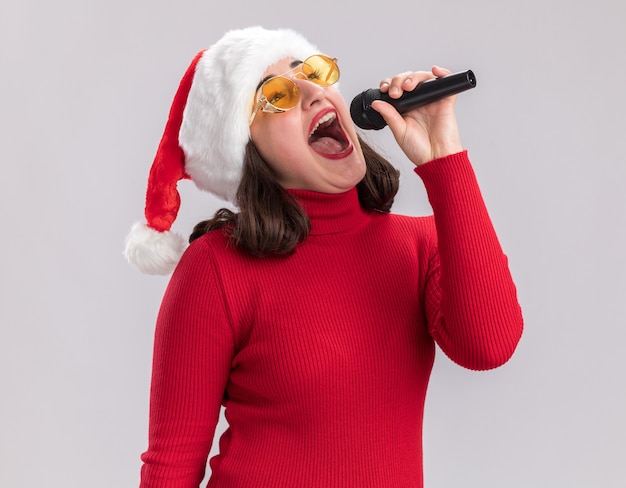
[{"label": "raised bent arm in red sleeve, with hand gripping microphone", "polygon": [[[397,98],[449,73],[439,67],[400,73],[383,80],[380,89]],[[455,101],[448,97],[404,115],[382,101],[372,106],[416,165],[433,208],[437,244],[426,287],[430,332],[455,362],[490,369],[511,357],[523,320],[507,258],[461,145]]]}]

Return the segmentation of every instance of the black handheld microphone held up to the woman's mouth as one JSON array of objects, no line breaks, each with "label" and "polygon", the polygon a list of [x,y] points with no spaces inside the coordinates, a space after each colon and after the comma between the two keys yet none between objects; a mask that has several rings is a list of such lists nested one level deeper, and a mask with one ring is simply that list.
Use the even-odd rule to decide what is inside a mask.
[{"label": "black handheld microphone held up to the woman's mouth", "polygon": [[359,93],[350,104],[350,116],[361,129],[379,130],[387,125],[385,119],[372,108],[372,102],[383,100],[393,105],[400,114],[417,107],[428,105],[442,98],[456,95],[476,86],[476,77],[472,70],[452,73],[426,80],[410,92],[404,92],[400,98],[391,98],[387,93],[370,88]]}]

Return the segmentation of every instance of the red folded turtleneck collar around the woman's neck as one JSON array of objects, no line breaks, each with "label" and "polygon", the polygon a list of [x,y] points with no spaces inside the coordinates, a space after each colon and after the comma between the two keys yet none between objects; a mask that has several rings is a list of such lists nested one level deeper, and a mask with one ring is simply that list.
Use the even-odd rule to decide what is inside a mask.
[{"label": "red folded turtleneck collar around the woman's neck", "polygon": [[354,229],[368,219],[361,208],[356,188],[344,193],[288,190],[311,221],[309,235],[337,234]]}]

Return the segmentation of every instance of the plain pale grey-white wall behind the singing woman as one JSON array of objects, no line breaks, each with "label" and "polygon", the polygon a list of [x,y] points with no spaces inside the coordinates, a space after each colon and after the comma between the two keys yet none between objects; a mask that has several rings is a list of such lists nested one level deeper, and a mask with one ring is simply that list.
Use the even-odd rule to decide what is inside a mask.
[{"label": "plain pale grey-white wall behind the singing woman", "polygon": [[[350,99],[437,63],[473,69],[462,138],[525,315],[514,358],[438,356],[427,488],[623,487],[626,29],[619,0],[3,0],[0,486],[132,487],[167,278],[122,257],[180,78],[227,29],[292,27]],[[371,137],[370,137],[371,136]],[[430,212],[403,171],[395,211]],[[221,205],[189,182],[175,229]]]}]

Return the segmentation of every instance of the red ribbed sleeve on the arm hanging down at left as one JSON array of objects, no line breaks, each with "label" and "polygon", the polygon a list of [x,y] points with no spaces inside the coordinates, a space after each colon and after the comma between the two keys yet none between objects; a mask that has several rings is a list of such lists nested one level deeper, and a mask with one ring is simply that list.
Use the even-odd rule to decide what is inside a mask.
[{"label": "red ribbed sleeve on the arm hanging down at left", "polygon": [[183,255],[157,319],[141,488],[197,488],[219,418],[233,334],[202,241]]}]

